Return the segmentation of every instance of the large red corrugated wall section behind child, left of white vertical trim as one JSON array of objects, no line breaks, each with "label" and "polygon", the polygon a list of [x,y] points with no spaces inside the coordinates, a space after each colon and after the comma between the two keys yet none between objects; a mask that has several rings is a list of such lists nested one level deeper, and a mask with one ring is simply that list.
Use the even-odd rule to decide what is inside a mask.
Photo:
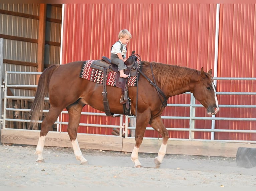
[{"label": "large red corrugated wall section behind child, left of white vertical trim", "polygon": [[[128,53],[135,50],[142,60],[186,66],[205,71],[214,66],[216,5],[213,4],[65,4],[62,64],[110,56],[118,32],[127,28],[132,39]],[[169,103],[188,103],[189,95],[169,99]],[[83,111],[94,110],[85,107]],[[94,110],[96,111],[96,110]],[[205,116],[198,108],[197,116]],[[163,115],[188,116],[189,108],[170,108]],[[83,116],[83,123],[102,122],[119,125],[112,117]],[[189,121],[164,120],[168,127],[186,128]],[[210,128],[199,121],[198,128]],[[100,130],[101,131],[101,130]],[[103,130],[104,131],[104,130]],[[101,131],[101,132],[103,132]],[[79,132],[96,132],[80,128]],[[106,132],[107,133],[107,132]],[[158,137],[152,131],[145,136]],[[196,133],[209,137],[209,133]],[[203,134],[203,135],[202,135]],[[188,138],[188,133],[170,132],[172,138]]]}]

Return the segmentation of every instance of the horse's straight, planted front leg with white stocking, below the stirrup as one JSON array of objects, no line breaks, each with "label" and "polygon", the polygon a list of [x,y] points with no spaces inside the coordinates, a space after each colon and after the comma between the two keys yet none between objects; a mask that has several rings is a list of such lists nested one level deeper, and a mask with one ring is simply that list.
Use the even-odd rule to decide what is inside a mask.
[{"label": "horse's straight, planted front leg with white stocking, below the stirrup", "polygon": [[139,161],[139,147],[142,143],[144,133],[149,122],[150,116],[137,114],[136,117],[136,128],[135,128],[135,146],[132,151],[131,159],[134,162],[134,167],[142,167]]}]

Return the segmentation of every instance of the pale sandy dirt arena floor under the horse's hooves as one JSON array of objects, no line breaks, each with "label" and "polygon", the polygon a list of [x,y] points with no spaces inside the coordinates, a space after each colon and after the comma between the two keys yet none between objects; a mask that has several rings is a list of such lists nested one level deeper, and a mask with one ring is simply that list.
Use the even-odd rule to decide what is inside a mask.
[{"label": "pale sandy dirt arena floor under the horse's hooves", "polygon": [[89,164],[80,165],[73,149],[62,147],[44,147],[45,163],[36,163],[35,148],[0,146],[0,190],[31,187],[255,190],[256,187],[256,167],[238,167],[235,158],[168,154],[156,169],[153,160],[157,154],[139,153],[144,168],[134,168],[131,153],[82,149]]}]

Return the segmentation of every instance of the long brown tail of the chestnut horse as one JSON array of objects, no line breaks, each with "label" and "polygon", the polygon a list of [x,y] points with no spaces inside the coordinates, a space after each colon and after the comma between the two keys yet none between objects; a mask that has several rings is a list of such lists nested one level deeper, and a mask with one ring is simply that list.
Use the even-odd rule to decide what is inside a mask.
[{"label": "long brown tail of the chestnut horse", "polygon": [[49,82],[53,72],[59,67],[59,64],[51,65],[46,68],[39,77],[35,99],[31,105],[28,116],[30,117],[29,129],[38,130],[38,120],[42,118],[44,98],[49,92]]}]

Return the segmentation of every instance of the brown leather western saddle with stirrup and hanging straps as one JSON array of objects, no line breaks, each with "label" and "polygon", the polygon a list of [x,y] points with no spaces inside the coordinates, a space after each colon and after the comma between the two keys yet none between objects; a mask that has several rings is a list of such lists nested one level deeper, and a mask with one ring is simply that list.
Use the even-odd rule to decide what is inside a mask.
[{"label": "brown leather western saddle with stirrup and hanging straps", "polygon": [[137,56],[134,54],[135,51],[132,51],[132,55],[129,56],[129,58],[124,62],[124,64],[127,66],[127,69],[124,70],[124,73],[128,75],[127,78],[121,78],[120,73],[118,72],[118,67],[117,65],[111,63],[111,60],[105,56],[102,56],[102,59],[100,60],[95,60],[91,64],[91,68],[103,71],[103,105],[104,105],[104,110],[107,116],[113,116],[114,114],[110,112],[109,109],[109,103],[107,99],[107,92],[106,92],[106,76],[107,72],[109,71],[114,71],[117,72],[116,80],[115,80],[115,85],[118,88],[122,89],[122,95],[120,98],[120,104],[123,105],[123,111],[125,115],[132,115],[130,106],[131,106],[131,99],[128,96],[128,79],[131,76],[136,76],[137,75]]}]

